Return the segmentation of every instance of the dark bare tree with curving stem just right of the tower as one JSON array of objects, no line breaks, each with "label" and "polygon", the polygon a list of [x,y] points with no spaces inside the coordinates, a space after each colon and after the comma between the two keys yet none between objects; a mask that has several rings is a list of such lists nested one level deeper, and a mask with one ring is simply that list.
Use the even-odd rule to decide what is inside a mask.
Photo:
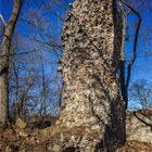
[{"label": "dark bare tree with curving stem just right of the tower", "polygon": [[[129,4],[128,4],[128,3]],[[141,27],[141,15],[139,11],[136,10],[135,5],[138,4],[138,1],[123,1],[119,0],[121,3],[121,10],[123,14],[123,40],[122,40],[122,58],[121,58],[121,64],[119,64],[119,71],[121,71],[121,92],[122,92],[122,98],[123,101],[125,102],[125,107],[128,107],[128,88],[129,88],[129,83],[130,83],[130,76],[131,76],[131,68],[134,66],[134,63],[137,58],[137,45],[139,40],[139,31]],[[127,65],[127,69],[125,69],[125,41],[127,40],[127,33],[126,33],[126,27],[127,27],[127,16],[130,14],[135,14],[138,17],[138,24],[136,25],[136,31],[135,31],[135,37],[134,37],[134,48],[132,48],[132,56]],[[127,73],[125,73],[127,71]]]}]

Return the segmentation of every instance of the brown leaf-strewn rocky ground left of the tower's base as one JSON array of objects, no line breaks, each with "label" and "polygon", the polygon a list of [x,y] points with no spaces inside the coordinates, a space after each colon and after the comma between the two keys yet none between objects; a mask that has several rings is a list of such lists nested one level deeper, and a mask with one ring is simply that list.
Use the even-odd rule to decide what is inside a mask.
[{"label": "brown leaf-strewn rocky ground left of the tower's base", "polygon": [[55,119],[56,117],[51,121],[25,123],[18,118],[11,127],[0,128],[0,152],[17,152],[28,147],[43,144],[49,139],[46,135],[50,135],[49,131],[43,132],[46,128],[50,128],[54,124]]}]

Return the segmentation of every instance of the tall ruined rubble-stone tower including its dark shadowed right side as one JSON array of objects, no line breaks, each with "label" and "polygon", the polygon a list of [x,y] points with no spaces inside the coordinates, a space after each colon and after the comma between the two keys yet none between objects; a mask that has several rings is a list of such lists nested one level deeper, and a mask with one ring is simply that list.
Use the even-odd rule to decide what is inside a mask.
[{"label": "tall ruined rubble-stone tower including its dark shadowed right side", "polygon": [[81,139],[74,136],[73,142],[79,139],[79,149],[88,152],[100,140],[117,147],[124,142],[117,135],[124,131],[124,115],[118,93],[122,22],[115,8],[113,0],[77,0],[64,25],[64,104],[56,126],[81,128]]}]

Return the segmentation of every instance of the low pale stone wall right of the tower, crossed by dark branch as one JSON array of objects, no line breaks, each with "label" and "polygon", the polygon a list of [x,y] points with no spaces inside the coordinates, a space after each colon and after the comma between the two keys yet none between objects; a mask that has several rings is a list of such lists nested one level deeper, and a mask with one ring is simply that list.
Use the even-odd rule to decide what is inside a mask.
[{"label": "low pale stone wall right of the tower, crossed by dark branch", "polygon": [[131,112],[126,117],[127,141],[136,140],[152,144],[152,111]]}]

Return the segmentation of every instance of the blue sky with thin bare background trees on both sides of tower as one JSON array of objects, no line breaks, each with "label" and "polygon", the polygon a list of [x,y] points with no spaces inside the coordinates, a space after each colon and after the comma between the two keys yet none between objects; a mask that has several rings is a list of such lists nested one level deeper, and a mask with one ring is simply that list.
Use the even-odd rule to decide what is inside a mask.
[{"label": "blue sky with thin bare background trees on both sides of tower", "polygon": [[[61,35],[65,14],[72,0],[24,1],[12,37],[9,63],[9,111],[11,117],[26,115],[58,115],[62,103],[62,58]],[[124,8],[126,22],[125,81],[128,65],[136,55],[127,87],[128,110],[151,109],[151,1],[126,0],[142,17],[136,54],[134,52],[138,17],[134,11]],[[0,1],[1,15],[9,21],[13,1]],[[0,22],[1,45],[4,25]],[[2,48],[2,46],[1,46]]]}]

